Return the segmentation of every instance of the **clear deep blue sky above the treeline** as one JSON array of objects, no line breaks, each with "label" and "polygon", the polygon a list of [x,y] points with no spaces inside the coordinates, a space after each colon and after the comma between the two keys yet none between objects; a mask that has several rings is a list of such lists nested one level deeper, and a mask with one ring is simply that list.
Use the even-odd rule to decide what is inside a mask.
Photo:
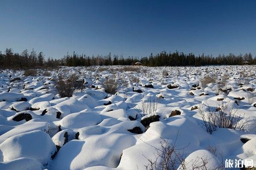
[{"label": "clear deep blue sky above the treeline", "polygon": [[0,51],[256,54],[255,0],[0,0]]}]

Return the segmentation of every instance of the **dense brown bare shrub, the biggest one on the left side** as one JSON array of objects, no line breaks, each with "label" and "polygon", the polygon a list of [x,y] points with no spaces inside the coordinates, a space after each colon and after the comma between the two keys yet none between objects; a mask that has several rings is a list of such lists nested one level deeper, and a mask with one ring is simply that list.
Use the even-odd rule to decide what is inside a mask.
[{"label": "dense brown bare shrub, the biggest one on the left side", "polygon": [[76,90],[83,88],[83,83],[77,81],[78,77],[73,74],[69,79],[64,79],[60,74],[58,76],[58,81],[56,82],[56,90],[61,97],[71,97]]}]

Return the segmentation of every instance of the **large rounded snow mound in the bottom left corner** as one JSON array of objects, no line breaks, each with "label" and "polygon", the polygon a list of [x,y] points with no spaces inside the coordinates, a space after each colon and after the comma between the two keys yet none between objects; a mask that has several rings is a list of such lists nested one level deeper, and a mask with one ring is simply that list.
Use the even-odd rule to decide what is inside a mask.
[{"label": "large rounded snow mound in the bottom left corner", "polygon": [[44,165],[55,153],[56,147],[47,133],[34,130],[6,139],[0,144],[0,150],[3,153],[3,161],[26,157]]}]

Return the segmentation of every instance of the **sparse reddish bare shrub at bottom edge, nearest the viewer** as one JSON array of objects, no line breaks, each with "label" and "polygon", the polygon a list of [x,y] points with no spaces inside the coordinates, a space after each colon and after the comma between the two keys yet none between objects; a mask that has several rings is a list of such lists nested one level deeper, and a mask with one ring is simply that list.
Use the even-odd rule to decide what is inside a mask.
[{"label": "sparse reddish bare shrub at bottom edge, nearest the viewer", "polygon": [[[207,166],[209,158],[207,157],[197,157],[192,161],[185,161],[184,149],[183,147],[177,149],[175,144],[177,142],[177,136],[174,144],[170,144],[168,140],[162,139],[160,142],[160,149],[153,147],[157,153],[154,153],[154,160],[144,157],[148,160],[148,164],[144,165],[146,170],[222,170],[223,165],[219,164],[218,167]],[[190,164],[190,166],[188,166]]]}]

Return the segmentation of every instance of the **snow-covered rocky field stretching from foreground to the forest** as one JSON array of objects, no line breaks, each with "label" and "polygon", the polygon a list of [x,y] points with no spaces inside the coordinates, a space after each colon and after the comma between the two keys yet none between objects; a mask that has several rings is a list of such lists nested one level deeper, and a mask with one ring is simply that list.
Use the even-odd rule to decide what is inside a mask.
[{"label": "snow-covered rocky field stretching from foreground to the forest", "polygon": [[[204,159],[208,169],[226,159],[256,167],[255,66],[122,68],[0,71],[0,170],[145,170],[165,142],[187,170]],[[59,74],[76,74],[85,88],[61,98]],[[104,89],[110,78],[112,95]],[[221,106],[244,127],[208,133],[199,112]]]}]

